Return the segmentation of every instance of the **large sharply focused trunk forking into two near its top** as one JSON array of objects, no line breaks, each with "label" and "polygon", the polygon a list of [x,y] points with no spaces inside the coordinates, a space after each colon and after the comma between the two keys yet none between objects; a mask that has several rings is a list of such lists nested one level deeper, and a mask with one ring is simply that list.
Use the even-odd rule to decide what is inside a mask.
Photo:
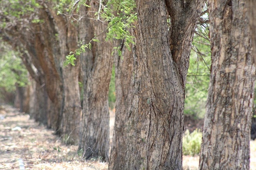
[{"label": "large sharply focused trunk forking into two near its top", "polygon": [[186,74],[203,2],[137,0],[135,86],[125,169],[182,169]]}]

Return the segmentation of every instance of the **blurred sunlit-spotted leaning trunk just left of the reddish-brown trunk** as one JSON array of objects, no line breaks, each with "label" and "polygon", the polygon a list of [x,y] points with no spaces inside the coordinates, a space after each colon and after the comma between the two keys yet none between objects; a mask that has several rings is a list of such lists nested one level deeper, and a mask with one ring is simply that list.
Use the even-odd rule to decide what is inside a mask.
[{"label": "blurred sunlit-spotted leaning trunk just left of the reddish-brown trunk", "polygon": [[[53,127],[53,121],[49,120],[52,120],[50,117],[56,113],[56,110],[54,110],[55,107],[53,107],[54,105],[48,96],[45,74],[40,64],[40,59],[38,58],[40,56],[37,55],[37,46],[35,44],[39,43],[36,42],[38,39],[34,37],[36,34],[34,34],[32,30],[30,30],[30,33],[24,32],[24,34],[21,35],[20,41],[22,42],[22,46],[20,46],[20,44],[15,45],[15,48],[22,54],[20,56],[22,62],[31,76],[29,87],[29,115],[31,118],[35,119],[35,121],[43,123],[48,127]],[[33,38],[25,38],[26,35]],[[26,49],[27,52],[24,51],[24,49]],[[39,49],[39,51],[40,50],[41,49]]]}]

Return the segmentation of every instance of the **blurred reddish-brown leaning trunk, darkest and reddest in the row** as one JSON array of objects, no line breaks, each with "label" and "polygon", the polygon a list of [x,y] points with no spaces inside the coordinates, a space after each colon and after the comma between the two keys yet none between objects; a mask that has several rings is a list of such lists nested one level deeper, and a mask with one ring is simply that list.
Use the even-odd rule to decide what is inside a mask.
[{"label": "blurred reddish-brown leaning trunk, darkest and reddest in the row", "polygon": [[43,81],[44,84],[41,84],[41,87],[45,86],[48,97],[54,104],[54,111],[50,112],[51,114],[48,115],[48,127],[57,130],[59,129],[60,108],[62,105],[62,82],[60,81],[59,74],[56,74],[56,66],[54,63],[50,62],[54,56],[50,55],[52,53],[49,53],[49,50],[51,47],[54,47],[52,44],[54,41],[47,37],[48,33],[52,31],[49,29],[48,26],[50,23],[47,21],[48,20],[46,20],[43,25],[36,27],[34,47],[36,51],[36,59],[38,59],[38,63],[44,72],[45,80]]}]

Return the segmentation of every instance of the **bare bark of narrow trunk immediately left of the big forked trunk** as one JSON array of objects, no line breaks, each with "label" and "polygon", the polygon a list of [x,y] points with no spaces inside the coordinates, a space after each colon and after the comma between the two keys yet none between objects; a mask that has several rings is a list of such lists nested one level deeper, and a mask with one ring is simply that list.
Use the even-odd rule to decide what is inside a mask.
[{"label": "bare bark of narrow trunk immediately left of the big forked trunk", "polygon": [[115,81],[116,81],[116,115],[114,134],[110,152],[109,170],[124,169],[128,116],[132,106],[134,77],[132,51],[128,51],[124,44],[116,43],[122,49],[122,57],[115,53]]}]

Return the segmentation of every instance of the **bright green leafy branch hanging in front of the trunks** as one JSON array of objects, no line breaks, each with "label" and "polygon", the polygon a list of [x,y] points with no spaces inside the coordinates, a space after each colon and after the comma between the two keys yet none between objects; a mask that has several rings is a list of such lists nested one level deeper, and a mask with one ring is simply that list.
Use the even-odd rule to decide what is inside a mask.
[{"label": "bright green leafy branch hanging in front of the trunks", "polygon": [[[66,2],[66,0],[61,1]],[[107,0],[104,3],[106,4],[104,9],[101,10],[100,13],[96,12],[95,16],[96,18],[99,18],[98,16],[101,16],[105,19],[106,22],[108,22],[108,28],[102,32],[106,32],[107,34],[106,41],[112,41],[112,39],[121,39],[122,43],[124,43],[126,48],[128,50],[131,50],[130,43],[135,42],[133,41],[134,37],[131,35],[130,30],[134,27],[134,22],[137,20],[137,13],[134,12],[134,10],[136,9],[134,0]],[[73,6],[75,6],[75,4]],[[79,12],[79,6],[81,4],[86,7],[90,7],[86,4],[86,1],[80,0],[76,4],[77,12]],[[91,42],[98,42],[99,40],[96,39],[96,37],[100,35],[96,35],[87,44],[84,44],[84,42],[81,41],[80,47],[76,49],[75,52],[70,52],[70,54],[66,56],[64,66],[67,66],[68,64],[74,66],[74,60],[76,60],[76,56],[80,55],[81,53],[85,53],[86,49],[91,49]],[[119,56],[122,55],[122,52],[120,50],[121,46],[114,47],[114,49],[117,50]]]}]

